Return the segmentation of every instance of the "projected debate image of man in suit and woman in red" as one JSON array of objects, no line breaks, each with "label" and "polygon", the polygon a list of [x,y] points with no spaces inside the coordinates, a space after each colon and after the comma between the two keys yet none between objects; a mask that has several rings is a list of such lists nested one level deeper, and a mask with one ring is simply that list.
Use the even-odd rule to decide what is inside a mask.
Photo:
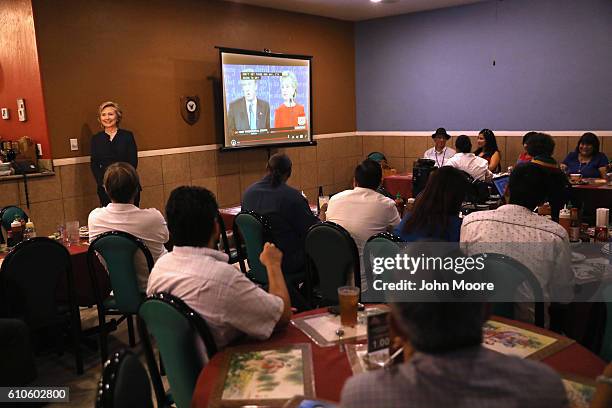
[{"label": "projected debate image of man in suit and woman in red", "polygon": [[311,141],[310,60],[221,53],[225,148]]}]

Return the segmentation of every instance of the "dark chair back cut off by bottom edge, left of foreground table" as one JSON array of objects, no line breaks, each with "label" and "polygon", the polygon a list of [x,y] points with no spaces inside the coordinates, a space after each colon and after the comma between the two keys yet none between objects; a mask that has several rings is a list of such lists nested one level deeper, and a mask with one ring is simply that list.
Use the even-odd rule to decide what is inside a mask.
[{"label": "dark chair back cut off by bottom edge, left of foreground table", "polygon": [[151,382],[138,356],[120,350],[104,364],[96,408],[153,408]]}]

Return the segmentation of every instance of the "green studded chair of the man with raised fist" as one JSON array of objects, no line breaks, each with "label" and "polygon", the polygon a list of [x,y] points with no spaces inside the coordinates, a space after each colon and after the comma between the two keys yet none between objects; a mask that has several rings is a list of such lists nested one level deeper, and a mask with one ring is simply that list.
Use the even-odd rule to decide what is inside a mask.
[{"label": "green studded chair of the man with raised fist", "polygon": [[140,306],[138,315],[138,329],[158,406],[164,405],[167,397],[157,371],[149,334],[155,338],[164,361],[172,390],[171,399],[178,408],[191,406],[200,371],[217,352],[208,324],[181,299],[163,292],[149,296]]}]

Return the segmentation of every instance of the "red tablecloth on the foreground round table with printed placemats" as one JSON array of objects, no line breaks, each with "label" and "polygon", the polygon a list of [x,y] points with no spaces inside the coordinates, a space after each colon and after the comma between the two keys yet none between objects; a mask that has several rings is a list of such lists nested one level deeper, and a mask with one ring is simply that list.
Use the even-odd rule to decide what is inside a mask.
[{"label": "red tablecloth on the foreground round table with printed placemats", "polygon": [[[323,309],[313,310],[298,316],[322,313],[323,311]],[[535,328],[530,324],[503,318],[497,318],[497,320],[544,334],[547,333],[546,330]],[[321,399],[339,401],[344,382],[353,375],[346,353],[340,352],[339,347],[319,347],[312,343],[302,331],[292,325],[275,333],[265,342],[253,344],[279,347],[294,343],[311,343],[312,345],[316,396]],[[214,392],[217,383],[224,380],[219,372],[223,356],[223,352],[215,355],[200,373],[193,394],[192,407],[207,407],[208,399]],[[577,343],[573,343],[558,353],[546,357],[542,362],[558,372],[588,378],[595,378],[602,373],[605,367],[603,360]]]}]

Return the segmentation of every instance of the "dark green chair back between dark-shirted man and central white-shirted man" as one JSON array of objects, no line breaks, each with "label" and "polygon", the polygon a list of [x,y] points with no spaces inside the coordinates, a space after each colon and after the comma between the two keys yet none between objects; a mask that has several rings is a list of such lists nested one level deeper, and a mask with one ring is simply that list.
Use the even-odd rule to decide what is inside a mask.
[{"label": "dark green chair back between dark-shirted man and central white-shirted man", "polygon": [[[338,304],[338,288],[345,286],[350,273],[352,284],[361,287],[359,252],[351,234],[340,225],[326,221],[306,233],[308,301],[313,305],[313,282],[318,278],[321,300],[317,306]],[[314,305],[313,305],[314,306]]]}]

